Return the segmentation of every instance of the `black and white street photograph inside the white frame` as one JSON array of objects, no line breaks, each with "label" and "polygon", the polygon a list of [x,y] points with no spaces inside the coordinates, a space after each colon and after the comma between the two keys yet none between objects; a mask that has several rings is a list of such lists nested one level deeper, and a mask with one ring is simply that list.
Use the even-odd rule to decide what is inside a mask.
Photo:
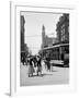
[{"label": "black and white street photograph inside the white frame", "polygon": [[20,86],[69,84],[69,13],[20,12]]}]

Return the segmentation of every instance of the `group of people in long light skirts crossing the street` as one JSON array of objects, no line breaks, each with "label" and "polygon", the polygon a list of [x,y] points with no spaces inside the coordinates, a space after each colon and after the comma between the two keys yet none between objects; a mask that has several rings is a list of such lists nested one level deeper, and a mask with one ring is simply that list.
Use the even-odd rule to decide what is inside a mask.
[{"label": "group of people in long light skirts crossing the street", "polygon": [[40,56],[26,58],[27,75],[32,77],[34,74],[43,75],[46,71],[50,71],[50,63],[48,58],[42,58]]}]

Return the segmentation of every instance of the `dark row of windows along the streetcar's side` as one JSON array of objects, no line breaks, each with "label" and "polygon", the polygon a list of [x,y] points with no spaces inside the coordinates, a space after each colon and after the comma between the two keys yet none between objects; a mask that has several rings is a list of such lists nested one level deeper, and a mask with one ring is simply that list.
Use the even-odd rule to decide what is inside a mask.
[{"label": "dark row of windows along the streetcar's side", "polygon": [[69,53],[69,47],[59,47],[43,52],[44,57],[48,57],[52,60],[64,60],[64,54]]}]

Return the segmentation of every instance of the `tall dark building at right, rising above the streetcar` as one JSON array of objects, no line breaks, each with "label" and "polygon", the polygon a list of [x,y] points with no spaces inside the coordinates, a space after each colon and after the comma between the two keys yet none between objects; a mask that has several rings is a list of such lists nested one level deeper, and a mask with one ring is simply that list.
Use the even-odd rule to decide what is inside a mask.
[{"label": "tall dark building at right, rising above the streetcar", "polygon": [[69,14],[64,14],[60,16],[57,23],[57,39],[60,41],[69,41]]}]

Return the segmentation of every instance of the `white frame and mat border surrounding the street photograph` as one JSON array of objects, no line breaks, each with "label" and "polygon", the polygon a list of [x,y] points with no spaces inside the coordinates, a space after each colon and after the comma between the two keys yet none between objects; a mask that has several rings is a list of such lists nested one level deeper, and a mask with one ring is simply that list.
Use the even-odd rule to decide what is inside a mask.
[{"label": "white frame and mat border surrounding the street photograph", "polygon": [[[64,9],[63,9],[64,8]],[[60,12],[70,14],[70,84],[20,87],[20,11],[37,12]],[[74,61],[75,32],[76,32],[76,9],[71,5],[27,5],[25,3],[11,3],[11,95],[40,95],[74,93],[76,86],[76,70]]]}]

